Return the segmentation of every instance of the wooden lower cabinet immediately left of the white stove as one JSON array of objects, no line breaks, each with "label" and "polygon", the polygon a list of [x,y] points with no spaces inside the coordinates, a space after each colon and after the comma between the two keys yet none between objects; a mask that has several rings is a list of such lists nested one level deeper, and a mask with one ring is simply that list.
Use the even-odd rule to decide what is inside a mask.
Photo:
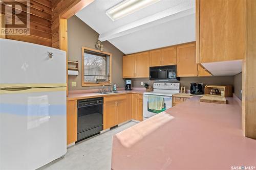
[{"label": "wooden lower cabinet immediately left of the white stove", "polygon": [[143,121],[143,94],[132,94],[132,119]]}]

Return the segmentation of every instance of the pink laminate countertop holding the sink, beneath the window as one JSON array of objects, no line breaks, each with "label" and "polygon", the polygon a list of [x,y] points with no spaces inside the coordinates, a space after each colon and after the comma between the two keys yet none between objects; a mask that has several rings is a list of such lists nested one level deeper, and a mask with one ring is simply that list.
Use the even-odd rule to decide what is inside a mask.
[{"label": "pink laminate countertop holding the sink, beneath the window", "polygon": [[136,93],[136,94],[143,94],[145,90],[118,90],[122,91],[119,93],[109,93],[109,94],[99,94],[95,92],[81,92],[81,93],[73,93],[69,94],[67,96],[67,101],[73,101],[73,100],[80,100],[80,99],[88,99],[88,98],[99,98],[104,96],[110,96],[110,95],[120,95],[120,94],[129,94],[129,93]]}]

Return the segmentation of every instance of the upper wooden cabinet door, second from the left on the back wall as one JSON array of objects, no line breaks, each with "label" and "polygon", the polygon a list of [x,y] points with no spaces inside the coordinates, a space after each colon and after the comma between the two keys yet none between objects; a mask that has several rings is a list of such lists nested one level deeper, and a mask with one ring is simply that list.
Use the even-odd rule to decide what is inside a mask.
[{"label": "upper wooden cabinet door, second from the left on the back wall", "polygon": [[148,52],[135,54],[135,77],[150,77],[149,54]]}]

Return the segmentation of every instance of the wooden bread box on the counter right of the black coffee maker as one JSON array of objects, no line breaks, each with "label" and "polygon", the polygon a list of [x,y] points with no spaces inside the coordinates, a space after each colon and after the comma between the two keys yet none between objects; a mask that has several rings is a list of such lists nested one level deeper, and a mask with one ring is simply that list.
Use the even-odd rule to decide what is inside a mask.
[{"label": "wooden bread box on the counter right of the black coffee maker", "polygon": [[[205,95],[212,95],[210,94],[210,89],[218,89],[219,90],[219,94],[214,94],[213,96],[222,96],[225,98],[229,98],[232,97],[232,86],[231,85],[225,85],[225,86],[221,86],[221,85],[206,85],[204,88],[204,93]],[[223,95],[221,95],[221,91],[223,91]]]}]

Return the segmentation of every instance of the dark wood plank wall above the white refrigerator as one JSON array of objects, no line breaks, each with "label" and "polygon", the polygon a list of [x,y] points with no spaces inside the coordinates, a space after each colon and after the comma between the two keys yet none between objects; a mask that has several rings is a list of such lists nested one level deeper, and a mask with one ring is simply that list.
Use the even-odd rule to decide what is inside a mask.
[{"label": "dark wood plank wall above the white refrigerator", "polygon": [[[26,3],[16,1],[22,7],[26,7]],[[0,5],[5,6],[0,2]],[[52,45],[52,4],[50,0],[30,0],[30,34],[29,35],[6,35],[7,39],[26,41],[40,45]],[[19,9],[15,9],[19,10]],[[27,12],[20,11],[20,20],[25,20]],[[2,11],[4,14],[4,11]],[[12,16],[6,15],[11,18]],[[6,28],[9,26],[6,25]]]}]

